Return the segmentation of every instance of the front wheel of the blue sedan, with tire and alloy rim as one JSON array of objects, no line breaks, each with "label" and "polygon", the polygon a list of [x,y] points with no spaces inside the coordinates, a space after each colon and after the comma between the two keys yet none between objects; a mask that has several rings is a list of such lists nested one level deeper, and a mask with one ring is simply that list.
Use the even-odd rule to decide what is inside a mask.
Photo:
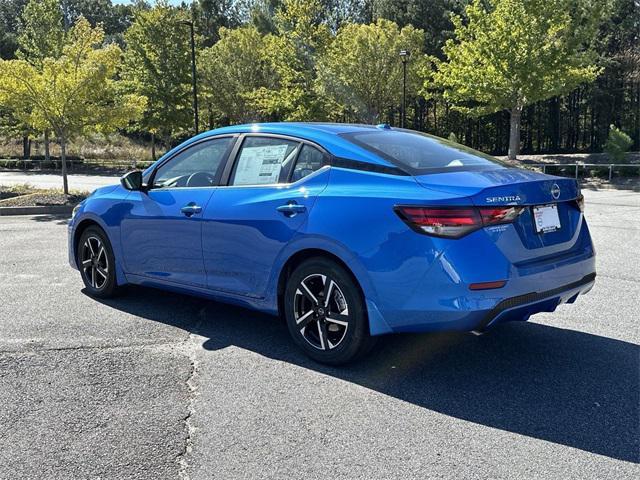
[{"label": "front wheel of the blue sedan, with tire and alloy rim", "polygon": [[118,293],[113,249],[100,227],[88,227],[80,235],[76,264],[89,295],[109,298]]}]

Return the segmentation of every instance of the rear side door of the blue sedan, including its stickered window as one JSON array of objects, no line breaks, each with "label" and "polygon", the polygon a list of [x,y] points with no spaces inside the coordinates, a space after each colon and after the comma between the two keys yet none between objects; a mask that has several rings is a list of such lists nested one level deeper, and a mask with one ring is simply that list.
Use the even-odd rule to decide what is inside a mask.
[{"label": "rear side door of the blue sedan, including its stickered window", "polygon": [[263,297],[274,261],[326,187],[328,156],[301,140],[247,134],[205,211],[209,288]]}]

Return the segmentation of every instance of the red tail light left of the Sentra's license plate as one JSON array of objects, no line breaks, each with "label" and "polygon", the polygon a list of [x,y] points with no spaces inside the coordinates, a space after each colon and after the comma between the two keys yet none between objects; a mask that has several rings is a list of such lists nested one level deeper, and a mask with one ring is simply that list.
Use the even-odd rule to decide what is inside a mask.
[{"label": "red tail light left of the Sentra's license plate", "polygon": [[398,206],[396,213],[413,230],[434,237],[460,238],[489,225],[511,223],[524,207]]}]

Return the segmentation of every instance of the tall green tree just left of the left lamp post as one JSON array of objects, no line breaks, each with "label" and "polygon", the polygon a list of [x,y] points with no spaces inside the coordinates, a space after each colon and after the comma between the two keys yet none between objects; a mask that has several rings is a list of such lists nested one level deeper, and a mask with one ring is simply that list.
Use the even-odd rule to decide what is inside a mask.
[{"label": "tall green tree just left of the left lamp post", "polygon": [[137,128],[165,144],[189,131],[193,118],[189,31],[180,23],[187,20],[185,10],[161,2],[136,10],[125,33],[123,79],[130,92],[147,98]]}]

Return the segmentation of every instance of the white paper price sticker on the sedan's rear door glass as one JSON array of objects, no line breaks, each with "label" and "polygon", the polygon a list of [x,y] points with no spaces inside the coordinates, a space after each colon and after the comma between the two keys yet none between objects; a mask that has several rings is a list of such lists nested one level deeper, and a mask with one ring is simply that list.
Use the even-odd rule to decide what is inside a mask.
[{"label": "white paper price sticker on the sedan's rear door glass", "polygon": [[289,148],[284,145],[245,147],[240,153],[234,185],[264,185],[278,183],[282,160]]}]

